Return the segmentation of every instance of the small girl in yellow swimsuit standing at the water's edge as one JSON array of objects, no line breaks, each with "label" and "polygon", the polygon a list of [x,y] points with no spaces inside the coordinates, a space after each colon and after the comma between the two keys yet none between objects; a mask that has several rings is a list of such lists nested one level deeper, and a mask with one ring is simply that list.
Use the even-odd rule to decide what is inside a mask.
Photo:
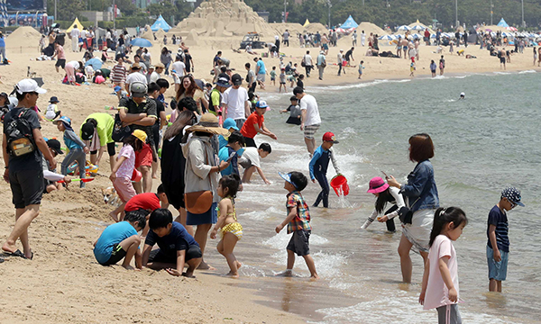
[{"label": "small girl in yellow swimsuit standing at the water's edge", "polygon": [[225,257],[229,266],[227,275],[234,278],[239,277],[238,270],[242,266],[234,257],[233,250],[237,241],[243,238],[243,225],[237,221],[234,209],[234,198],[239,190],[241,178],[238,175],[225,175],[218,184],[218,195],[222,200],[218,203],[218,221],[210,232],[210,238],[215,239],[220,230],[220,241],[218,252]]}]

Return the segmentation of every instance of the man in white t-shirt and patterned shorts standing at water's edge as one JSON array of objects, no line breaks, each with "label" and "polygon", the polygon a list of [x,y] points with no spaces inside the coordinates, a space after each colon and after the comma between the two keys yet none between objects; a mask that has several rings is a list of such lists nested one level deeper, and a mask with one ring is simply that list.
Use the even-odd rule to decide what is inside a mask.
[{"label": "man in white t-shirt and patterned shorts standing at water's edge", "polygon": [[316,150],[316,139],[314,135],[319,130],[319,126],[321,126],[321,117],[319,117],[316,98],[311,94],[305,94],[303,88],[300,86],[293,89],[293,94],[300,101],[300,130],[304,130],[307,150],[310,153],[310,157],[312,157]]}]

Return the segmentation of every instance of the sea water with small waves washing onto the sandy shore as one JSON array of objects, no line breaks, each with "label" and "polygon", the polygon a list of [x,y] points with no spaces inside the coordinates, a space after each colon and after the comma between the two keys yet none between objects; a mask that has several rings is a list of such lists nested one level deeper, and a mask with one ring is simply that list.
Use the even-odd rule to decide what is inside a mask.
[{"label": "sea water with small waves washing onto the sandy shore", "polygon": [[[436,311],[417,303],[422,281],[422,258],[412,252],[413,284],[401,284],[398,231],[373,223],[360,229],[373,209],[368,182],[381,171],[405,181],[414,164],[408,161],[408,138],[417,132],[432,137],[432,163],[441,205],[459,206],[468,225],[456,242],[460,311],[465,323],[539,322],[541,302],[541,75],[535,71],[435,79],[380,80],[345,86],[308,87],[323,120],[316,136],[335,132],[335,153],[350,185],[340,200],[331,193],[331,207],[312,208],[311,254],[322,279],[311,282],[302,258],[294,278],[276,277],[286,266],[289,236],[274,231],[286,217],[283,180],[278,171],[308,174],[309,157],[298,126],[285,124],[279,110],[289,94],[265,94],[271,111],[266,124],[279,137],[268,141],[272,153],[261,161],[271,180],[256,175],[237,200],[244,237],[235,254],[243,279],[265,298],[263,304],[300,314],[316,323],[433,323]],[[459,94],[465,100],[458,100]],[[317,141],[318,145],[320,140]],[[329,167],[329,179],[335,175]],[[514,185],[526,207],[509,212],[508,280],[503,293],[488,292],[486,222],[500,191]],[[332,191],[332,190],[331,190]],[[317,184],[303,192],[308,204],[316,199]],[[211,242],[210,246],[214,243]],[[225,261],[215,258],[219,270]]]}]

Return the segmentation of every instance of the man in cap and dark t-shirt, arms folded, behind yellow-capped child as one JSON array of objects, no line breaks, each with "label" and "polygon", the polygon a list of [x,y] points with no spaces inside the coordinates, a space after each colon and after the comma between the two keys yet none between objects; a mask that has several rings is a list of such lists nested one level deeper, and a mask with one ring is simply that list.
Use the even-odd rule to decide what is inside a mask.
[{"label": "man in cap and dark t-shirt, arms folded, behind yellow-capped child", "polygon": [[[147,85],[136,81],[130,85],[132,96],[120,99],[118,109],[120,120],[124,126],[130,125],[132,130],[143,130],[147,134],[147,142],[142,150],[135,152],[135,167],[142,173],[142,188],[140,183],[133,186],[137,193],[150,193],[152,187],[151,166],[152,161],[158,161],[157,150],[154,144],[152,125],[158,119],[156,101],[147,96]],[[156,139],[159,140],[159,139]]]}]

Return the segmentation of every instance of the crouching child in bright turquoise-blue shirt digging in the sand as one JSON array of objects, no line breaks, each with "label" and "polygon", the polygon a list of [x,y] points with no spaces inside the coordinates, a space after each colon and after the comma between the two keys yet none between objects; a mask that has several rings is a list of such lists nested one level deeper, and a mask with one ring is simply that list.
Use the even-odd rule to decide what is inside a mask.
[{"label": "crouching child in bright turquoise-blue shirt digging in the sand", "polygon": [[146,225],[148,211],[129,211],[124,221],[107,226],[94,242],[94,257],[102,266],[116,265],[124,258],[122,266],[133,270],[130,266],[135,256],[135,266],[142,269],[142,254],[139,251],[141,237],[137,234]]}]

